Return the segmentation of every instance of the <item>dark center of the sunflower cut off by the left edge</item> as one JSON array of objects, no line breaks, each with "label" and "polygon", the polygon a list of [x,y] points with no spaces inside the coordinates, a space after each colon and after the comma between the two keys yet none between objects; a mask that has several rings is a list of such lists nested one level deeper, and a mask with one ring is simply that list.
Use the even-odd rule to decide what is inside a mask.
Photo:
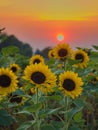
[{"label": "dark center of the sunflower cut off by the left edge", "polygon": [[6,88],[9,87],[11,83],[11,79],[7,75],[0,75],[0,86]]}]

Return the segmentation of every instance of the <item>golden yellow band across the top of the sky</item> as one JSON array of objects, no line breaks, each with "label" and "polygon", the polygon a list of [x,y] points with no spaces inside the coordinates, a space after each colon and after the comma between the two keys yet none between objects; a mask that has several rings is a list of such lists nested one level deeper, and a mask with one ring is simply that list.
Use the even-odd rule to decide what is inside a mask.
[{"label": "golden yellow band across the top of the sky", "polygon": [[88,20],[98,17],[98,0],[3,0],[0,16],[3,14],[32,20]]}]

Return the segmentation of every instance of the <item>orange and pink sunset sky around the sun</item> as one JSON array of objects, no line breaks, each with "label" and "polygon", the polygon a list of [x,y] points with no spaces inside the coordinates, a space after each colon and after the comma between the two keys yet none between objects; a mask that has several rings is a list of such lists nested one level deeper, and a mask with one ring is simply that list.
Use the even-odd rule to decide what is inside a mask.
[{"label": "orange and pink sunset sky around the sun", "polygon": [[98,45],[98,0],[2,0],[2,27],[33,49],[58,43],[90,48]]}]

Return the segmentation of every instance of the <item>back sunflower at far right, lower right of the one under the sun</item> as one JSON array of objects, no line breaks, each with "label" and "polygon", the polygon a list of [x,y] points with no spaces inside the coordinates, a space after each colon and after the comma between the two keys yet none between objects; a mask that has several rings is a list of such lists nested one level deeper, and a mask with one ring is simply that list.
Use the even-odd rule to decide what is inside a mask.
[{"label": "back sunflower at far right, lower right of the one under the sun", "polygon": [[79,63],[75,64],[76,67],[84,68],[87,66],[87,63],[89,61],[89,57],[87,53],[83,50],[76,50],[72,54],[73,60],[80,60]]}]

